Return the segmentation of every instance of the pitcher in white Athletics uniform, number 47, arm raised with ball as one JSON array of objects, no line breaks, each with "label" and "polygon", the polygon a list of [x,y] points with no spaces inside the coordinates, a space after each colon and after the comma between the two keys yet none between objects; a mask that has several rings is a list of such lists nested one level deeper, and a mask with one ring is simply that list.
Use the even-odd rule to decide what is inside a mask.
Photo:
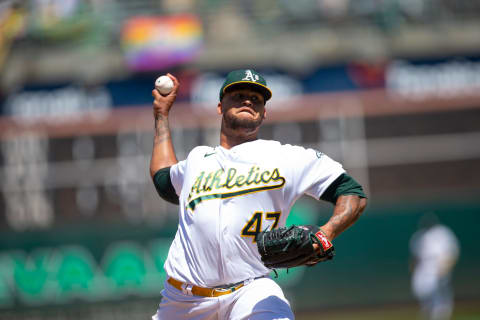
[{"label": "pitcher in white Athletics uniform, number 47, arm raised with ball", "polygon": [[[167,280],[154,320],[294,319],[272,269],[332,259],[332,241],[366,206],[362,187],[327,155],[257,138],[272,92],[252,69],[230,72],[219,93],[220,144],[178,161],[168,125],[178,91],[153,90],[150,174],[179,205]],[[285,226],[303,194],[334,204],[321,226]]]}]

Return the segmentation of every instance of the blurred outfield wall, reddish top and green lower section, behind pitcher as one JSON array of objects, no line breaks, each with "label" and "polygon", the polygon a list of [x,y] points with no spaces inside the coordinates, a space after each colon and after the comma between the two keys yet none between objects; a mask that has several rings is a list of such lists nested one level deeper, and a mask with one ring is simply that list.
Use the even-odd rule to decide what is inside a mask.
[{"label": "blurred outfield wall, reddish top and green lower section, behind pitcher", "polygon": [[[299,107],[275,105],[260,137],[326,153],[369,197],[363,217],[335,240],[333,261],[279,272],[293,307],[413,302],[409,239],[426,212],[460,240],[456,297],[480,299],[479,101],[374,91],[290,102]],[[172,118],[179,159],[196,145],[218,144],[211,113],[178,107],[185,111]],[[156,308],[177,208],[158,197],[148,174],[151,109],[96,116],[62,124],[0,119],[2,320],[143,318],[138,310]],[[288,224],[321,225],[331,210],[303,198]],[[127,302],[135,307],[123,309]]]}]

